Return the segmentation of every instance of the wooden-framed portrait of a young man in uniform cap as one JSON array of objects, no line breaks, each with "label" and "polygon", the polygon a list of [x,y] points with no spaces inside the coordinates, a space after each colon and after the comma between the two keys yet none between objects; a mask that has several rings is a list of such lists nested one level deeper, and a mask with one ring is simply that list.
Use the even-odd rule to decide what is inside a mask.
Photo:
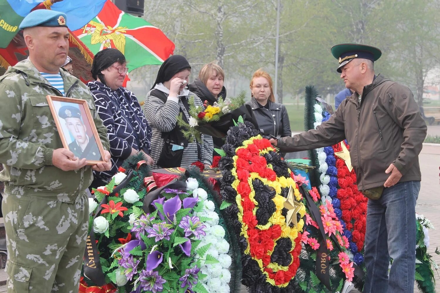
[{"label": "wooden-framed portrait of a young man in uniform cap", "polygon": [[103,162],[104,148],[99,139],[87,101],[46,96],[64,148],[87,160],[88,165]]}]

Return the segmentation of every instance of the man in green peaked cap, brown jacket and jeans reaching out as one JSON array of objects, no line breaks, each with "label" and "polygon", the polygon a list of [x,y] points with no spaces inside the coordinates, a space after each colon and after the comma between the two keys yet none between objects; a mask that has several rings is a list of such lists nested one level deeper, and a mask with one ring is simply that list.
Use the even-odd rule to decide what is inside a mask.
[{"label": "man in green peaked cap, brown jacket and jeans reaching out", "polygon": [[354,93],[316,129],[271,142],[280,152],[297,152],[348,141],[358,189],[369,198],[363,292],[412,293],[425,121],[408,87],[375,75],[378,48],[343,43],[331,52]]}]

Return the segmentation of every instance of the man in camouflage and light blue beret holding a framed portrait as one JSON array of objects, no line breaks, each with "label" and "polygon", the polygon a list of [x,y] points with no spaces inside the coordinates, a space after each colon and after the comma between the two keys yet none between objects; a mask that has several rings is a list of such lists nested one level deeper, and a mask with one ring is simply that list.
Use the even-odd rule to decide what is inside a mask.
[{"label": "man in camouflage and light blue beret holding a framed portrait", "polygon": [[[108,149],[107,129],[88,87],[59,69],[69,50],[66,15],[33,11],[20,29],[29,58],[0,77],[7,292],[77,293],[88,232],[85,190],[92,182],[92,169],[110,170],[110,154],[105,151],[106,162],[90,167],[63,148],[46,96],[64,91],[66,97],[87,100]],[[60,74],[63,88],[52,86],[44,73]]]}]

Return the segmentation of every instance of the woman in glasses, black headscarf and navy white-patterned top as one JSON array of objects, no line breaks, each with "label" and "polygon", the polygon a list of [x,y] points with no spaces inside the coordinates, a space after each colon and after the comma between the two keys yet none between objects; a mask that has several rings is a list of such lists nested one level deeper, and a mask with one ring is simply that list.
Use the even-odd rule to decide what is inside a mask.
[{"label": "woman in glasses, black headscarf and navy white-patterned top", "polygon": [[99,51],[93,59],[91,72],[95,81],[87,86],[108,130],[112,163],[110,171],[93,172],[91,187],[97,188],[108,183],[129,156],[143,152],[147,163],[153,163],[148,156],[152,130],[136,96],[122,87],[128,72],[124,54],[113,48]]}]

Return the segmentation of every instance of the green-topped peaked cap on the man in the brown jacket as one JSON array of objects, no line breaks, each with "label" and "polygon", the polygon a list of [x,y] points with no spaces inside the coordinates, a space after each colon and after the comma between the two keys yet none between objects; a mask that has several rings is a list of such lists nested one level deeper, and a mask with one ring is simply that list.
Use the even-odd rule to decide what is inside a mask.
[{"label": "green-topped peaked cap on the man in the brown jacket", "polygon": [[376,47],[354,43],[337,44],[331,47],[330,50],[333,57],[339,62],[339,67],[336,69],[339,73],[341,73],[342,66],[355,58],[368,59],[374,62],[382,55],[382,51]]}]

